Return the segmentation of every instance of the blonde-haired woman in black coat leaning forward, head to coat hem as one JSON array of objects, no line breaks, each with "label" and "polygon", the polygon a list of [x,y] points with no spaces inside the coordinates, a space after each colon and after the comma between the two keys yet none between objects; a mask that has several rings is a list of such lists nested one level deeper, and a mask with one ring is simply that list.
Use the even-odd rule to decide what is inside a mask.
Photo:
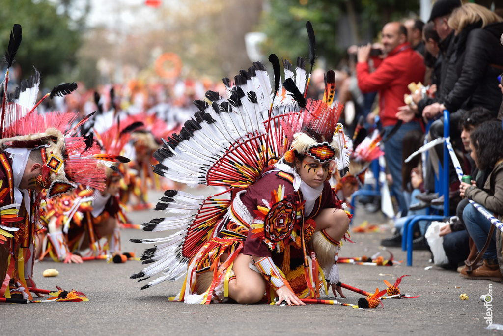
[{"label": "blonde-haired woman in black coat leaning forward, head to coat hem", "polygon": [[501,104],[497,76],[503,70],[503,19],[487,8],[465,4],[453,11],[449,26],[455,31],[455,48],[449,67],[457,72],[453,89],[442,95],[441,111],[452,113],[481,106],[496,117]]}]

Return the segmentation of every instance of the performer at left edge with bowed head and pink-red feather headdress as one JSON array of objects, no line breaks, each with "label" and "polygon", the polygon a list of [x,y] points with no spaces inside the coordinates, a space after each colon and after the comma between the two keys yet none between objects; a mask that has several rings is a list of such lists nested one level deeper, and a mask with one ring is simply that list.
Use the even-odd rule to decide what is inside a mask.
[{"label": "performer at left edge with bowed head and pink-red feather headdress", "polygon": [[16,24],[6,52],[7,74],[0,110],[0,297],[32,298],[35,237],[39,230],[42,191],[49,198],[71,191],[75,183],[103,185],[105,174],[97,167],[92,144],[71,127],[76,115],[51,112],[39,115],[45,98],[63,96],[76,83],[54,88],[36,104],[40,72],[21,82],[7,95],[9,68],[21,42]]}]

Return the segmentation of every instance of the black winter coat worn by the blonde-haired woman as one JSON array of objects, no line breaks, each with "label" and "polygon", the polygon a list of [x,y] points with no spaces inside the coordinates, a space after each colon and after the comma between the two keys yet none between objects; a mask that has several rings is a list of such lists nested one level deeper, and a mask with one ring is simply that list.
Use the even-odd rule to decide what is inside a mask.
[{"label": "black winter coat worn by the blonde-haired woman", "polygon": [[450,92],[446,92],[448,87],[442,88],[439,101],[451,113],[461,108],[469,110],[482,106],[496,117],[501,104],[497,76],[503,70],[503,45],[499,42],[503,23],[479,27],[481,22],[468,25],[455,37],[455,52],[450,57],[446,74],[448,78],[442,82],[458,78]]}]

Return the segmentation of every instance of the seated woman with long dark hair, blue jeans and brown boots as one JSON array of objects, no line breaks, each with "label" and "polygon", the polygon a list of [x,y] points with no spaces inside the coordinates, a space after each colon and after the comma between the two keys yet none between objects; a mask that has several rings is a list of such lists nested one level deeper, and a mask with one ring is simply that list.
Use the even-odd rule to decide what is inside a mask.
[{"label": "seated woman with long dark hair, blue jeans and brown boots", "polygon": [[[472,181],[471,185],[462,182],[460,186],[461,196],[477,202],[500,220],[503,219],[502,143],[503,130],[498,121],[486,121],[470,134],[470,156],[479,171],[487,175],[487,178],[483,185]],[[483,262],[480,267],[471,271],[465,267],[460,275],[467,279],[503,281],[497,259],[498,251],[499,254],[501,253],[501,239],[498,239],[498,246],[496,246],[494,226],[471,204],[468,204],[463,211],[463,221],[470,237],[475,242],[479,255],[482,255]],[[500,237],[501,234],[498,233],[498,236]],[[486,241],[488,245],[484,246]],[[501,267],[503,268],[503,263]]]}]

